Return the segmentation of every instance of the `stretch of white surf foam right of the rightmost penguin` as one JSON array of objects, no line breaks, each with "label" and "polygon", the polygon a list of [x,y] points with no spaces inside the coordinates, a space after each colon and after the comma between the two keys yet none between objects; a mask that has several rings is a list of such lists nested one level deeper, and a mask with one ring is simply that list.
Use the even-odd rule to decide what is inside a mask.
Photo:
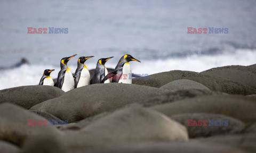
[{"label": "stretch of white surf foam right of the rightmost penguin", "polygon": [[256,63],[255,50],[237,50],[233,53],[219,55],[192,55],[187,58],[173,58],[167,60],[130,62],[132,73],[154,74],[170,70],[188,70],[201,72],[214,67],[242,65],[249,66]]}]

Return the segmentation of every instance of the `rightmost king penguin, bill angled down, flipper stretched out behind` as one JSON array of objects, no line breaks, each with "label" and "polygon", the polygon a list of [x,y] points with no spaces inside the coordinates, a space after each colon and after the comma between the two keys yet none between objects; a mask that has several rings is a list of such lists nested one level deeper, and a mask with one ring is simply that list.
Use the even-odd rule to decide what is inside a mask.
[{"label": "rightmost king penguin, bill angled down, flipper stretched out behind", "polygon": [[115,71],[103,78],[102,82],[110,77],[113,77],[112,83],[132,84],[132,70],[129,64],[130,61],[140,62],[139,60],[133,58],[132,55],[124,55],[117,63]]}]

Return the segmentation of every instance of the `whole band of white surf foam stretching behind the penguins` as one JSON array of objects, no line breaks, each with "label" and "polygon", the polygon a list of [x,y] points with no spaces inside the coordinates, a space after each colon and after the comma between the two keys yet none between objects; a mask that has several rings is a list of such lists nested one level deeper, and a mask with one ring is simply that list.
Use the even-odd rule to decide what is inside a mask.
[{"label": "whole band of white surf foam stretching behind the penguins", "polygon": [[[166,60],[141,60],[130,62],[132,73],[135,74],[155,74],[170,70],[189,70],[201,72],[214,67],[228,65],[249,66],[256,63],[256,51],[237,50],[233,53],[219,55],[192,55],[187,58],[172,58]],[[95,63],[86,63],[88,69],[94,69]],[[106,63],[107,67],[115,68],[114,62]],[[75,65],[69,66],[74,73]],[[51,65],[24,65],[19,68],[0,71],[0,90],[23,85],[37,85],[43,75],[44,69],[55,69],[51,73],[52,78],[58,76],[60,67]]]}]

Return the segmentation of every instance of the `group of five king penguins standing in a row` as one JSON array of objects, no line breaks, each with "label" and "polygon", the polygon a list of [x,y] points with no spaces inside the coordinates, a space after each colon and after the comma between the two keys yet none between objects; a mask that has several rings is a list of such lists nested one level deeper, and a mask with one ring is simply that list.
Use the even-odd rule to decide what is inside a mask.
[{"label": "group of five king penguins standing in a row", "polygon": [[[132,55],[125,54],[119,62],[115,70],[111,73],[108,73],[107,68],[105,67],[105,63],[114,57],[109,58],[101,58],[98,60],[96,68],[94,70],[93,77],[91,78],[90,72],[87,67],[84,65],[84,62],[87,59],[93,58],[91,57],[80,57],[77,61],[77,69],[75,74],[73,75],[70,69],[67,66],[67,63],[70,59],[74,58],[77,54],[62,58],[60,60],[60,71],[58,73],[57,82],[54,84],[53,79],[50,77],[50,74],[54,69],[46,69],[44,70],[43,76],[39,82],[39,85],[50,85],[59,87],[61,90],[67,92],[73,90],[77,87],[82,87],[89,84],[98,84],[98,83],[125,83],[131,84],[132,79],[127,78],[127,76],[131,76],[131,67],[130,61],[138,61],[132,57]],[[91,79],[90,79],[91,78]]]}]

